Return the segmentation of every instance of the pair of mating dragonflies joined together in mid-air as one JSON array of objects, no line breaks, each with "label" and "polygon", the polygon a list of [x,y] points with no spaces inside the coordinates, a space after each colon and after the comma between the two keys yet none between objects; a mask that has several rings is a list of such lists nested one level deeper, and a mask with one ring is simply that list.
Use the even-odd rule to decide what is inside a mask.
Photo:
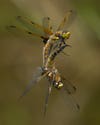
[{"label": "pair of mating dragonflies joined together in mid-air", "polygon": [[[42,67],[39,67],[37,69],[37,72],[34,73],[31,83],[28,85],[24,93],[21,95],[21,97],[23,97],[34,84],[38,83],[42,78],[46,77],[47,80],[49,81],[49,84],[48,84],[48,92],[45,99],[44,114],[46,114],[48,98],[50,96],[50,93],[53,87],[57,88],[58,90],[63,89],[69,95],[76,91],[75,86],[73,86],[72,83],[68,81],[66,78],[63,78],[55,66],[56,56],[61,52],[64,53],[63,50],[67,46],[70,46],[66,43],[66,40],[69,39],[70,37],[70,32],[64,30],[64,26],[66,23],[70,24],[69,22],[71,20],[69,19],[72,14],[73,14],[72,11],[68,11],[66,13],[65,17],[63,18],[60,25],[58,26],[56,32],[53,32],[53,29],[50,26],[49,17],[45,17],[43,19],[43,26],[33,21],[29,21],[27,18],[23,18],[21,16],[17,17],[19,21],[25,21],[27,24],[31,25],[32,27],[36,27],[44,31],[44,36],[41,36],[31,31],[24,30],[26,33],[32,36],[41,38],[42,42],[44,43],[44,47],[43,47],[43,65]],[[14,25],[10,25],[9,28],[20,29]],[[65,81],[66,83],[64,83]],[[79,105],[77,103],[75,106],[77,109],[79,109]]]}]

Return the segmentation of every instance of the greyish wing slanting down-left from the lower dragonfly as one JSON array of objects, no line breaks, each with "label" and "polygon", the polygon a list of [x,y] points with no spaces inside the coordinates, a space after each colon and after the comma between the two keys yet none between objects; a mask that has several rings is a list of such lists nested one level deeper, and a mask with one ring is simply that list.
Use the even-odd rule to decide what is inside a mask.
[{"label": "greyish wing slanting down-left from the lower dragonfly", "polygon": [[33,73],[31,82],[28,84],[28,86],[26,87],[26,89],[23,92],[23,94],[19,97],[19,100],[23,96],[25,96],[30,91],[30,89],[32,88],[32,86],[35,85],[36,83],[38,83],[44,76],[45,76],[45,74],[43,74],[42,68],[38,67],[37,70],[36,70],[36,72]]}]

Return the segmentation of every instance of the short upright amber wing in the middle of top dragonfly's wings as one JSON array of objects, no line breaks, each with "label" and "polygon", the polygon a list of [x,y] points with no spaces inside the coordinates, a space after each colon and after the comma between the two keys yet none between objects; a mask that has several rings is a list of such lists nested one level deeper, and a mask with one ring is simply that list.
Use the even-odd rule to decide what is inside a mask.
[{"label": "short upright amber wing in the middle of top dragonfly's wings", "polygon": [[50,20],[50,17],[44,17],[43,18],[43,28],[44,28],[44,35],[45,35],[45,37],[49,37],[49,34],[47,33],[47,29],[52,33],[53,31],[52,31],[52,26],[50,25],[50,22],[51,22],[51,20]]}]

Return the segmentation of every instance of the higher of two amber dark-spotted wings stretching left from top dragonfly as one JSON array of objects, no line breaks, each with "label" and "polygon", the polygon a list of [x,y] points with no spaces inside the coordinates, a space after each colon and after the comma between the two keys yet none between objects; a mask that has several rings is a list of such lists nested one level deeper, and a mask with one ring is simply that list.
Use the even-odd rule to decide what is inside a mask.
[{"label": "higher of two amber dark-spotted wings stretching left from top dragonfly", "polygon": [[[31,21],[29,20],[28,18],[26,17],[21,17],[21,16],[18,16],[17,19],[20,21],[20,22],[23,22],[23,23],[27,23],[29,26],[31,26],[31,29],[34,27],[34,28],[38,28],[38,29],[41,29],[43,30],[45,33],[47,33],[48,35],[51,35],[52,32],[51,30],[49,30],[48,28],[44,28],[43,26],[35,23],[34,21]],[[45,30],[44,30],[45,29]]]}]

